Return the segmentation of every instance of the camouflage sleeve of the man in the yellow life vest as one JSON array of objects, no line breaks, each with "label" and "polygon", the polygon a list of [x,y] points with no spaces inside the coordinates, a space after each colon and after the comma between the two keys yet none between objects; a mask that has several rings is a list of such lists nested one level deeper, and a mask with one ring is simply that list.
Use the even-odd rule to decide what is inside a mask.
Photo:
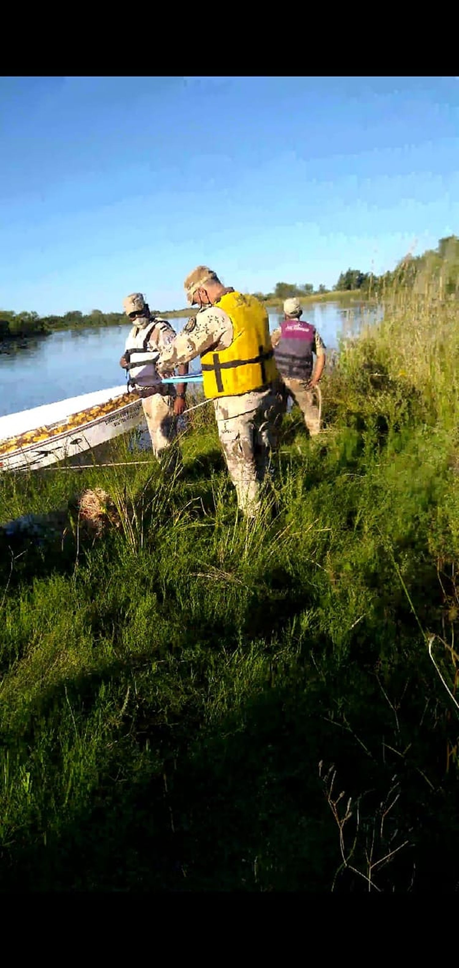
[{"label": "camouflage sleeve of the man in the yellow life vest", "polygon": [[159,373],[179,363],[189,363],[206,349],[215,346],[227,332],[229,323],[230,319],[222,310],[218,313],[204,311],[190,318],[183,331],[161,350],[157,363]]}]

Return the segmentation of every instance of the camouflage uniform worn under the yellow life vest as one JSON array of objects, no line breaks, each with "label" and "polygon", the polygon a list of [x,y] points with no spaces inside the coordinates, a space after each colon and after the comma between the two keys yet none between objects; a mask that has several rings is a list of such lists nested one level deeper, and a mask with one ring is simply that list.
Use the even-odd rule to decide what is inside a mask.
[{"label": "camouflage uniform worn under the yellow life vest", "polygon": [[[174,368],[213,348],[228,349],[232,343],[232,323],[218,306],[199,310],[189,319],[182,333],[160,353],[158,370]],[[225,454],[237,503],[249,517],[260,507],[260,486],[270,469],[270,457],[277,444],[277,425],[281,416],[275,388],[254,390],[214,400],[218,435]]]}]

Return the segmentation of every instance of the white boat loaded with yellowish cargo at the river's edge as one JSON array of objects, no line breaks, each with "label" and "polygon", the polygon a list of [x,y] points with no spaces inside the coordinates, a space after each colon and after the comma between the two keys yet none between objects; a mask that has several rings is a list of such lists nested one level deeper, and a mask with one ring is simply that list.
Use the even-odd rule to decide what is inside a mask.
[{"label": "white boat loaded with yellowish cargo at the river's edge", "polygon": [[126,434],[143,419],[126,385],[0,417],[0,472],[46,468]]}]

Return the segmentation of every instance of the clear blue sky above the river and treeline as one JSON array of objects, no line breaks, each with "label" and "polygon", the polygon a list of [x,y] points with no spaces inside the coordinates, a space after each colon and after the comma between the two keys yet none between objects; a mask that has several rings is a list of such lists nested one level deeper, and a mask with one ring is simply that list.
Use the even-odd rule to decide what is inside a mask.
[{"label": "clear blue sky above the river and treeline", "polygon": [[459,234],[457,77],[0,78],[0,308],[332,287]]}]

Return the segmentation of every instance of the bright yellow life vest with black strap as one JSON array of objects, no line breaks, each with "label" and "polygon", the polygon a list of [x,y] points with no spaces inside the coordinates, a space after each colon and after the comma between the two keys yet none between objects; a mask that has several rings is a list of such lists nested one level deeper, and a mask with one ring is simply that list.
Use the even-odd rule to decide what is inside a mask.
[{"label": "bright yellow life vest with black strap", "polygon": [[204,396],[232,397],[263,389],[278,375],[264,306],[240,292],[226,292],[215,305],[230,317],[232,343],[201,355]]}]

